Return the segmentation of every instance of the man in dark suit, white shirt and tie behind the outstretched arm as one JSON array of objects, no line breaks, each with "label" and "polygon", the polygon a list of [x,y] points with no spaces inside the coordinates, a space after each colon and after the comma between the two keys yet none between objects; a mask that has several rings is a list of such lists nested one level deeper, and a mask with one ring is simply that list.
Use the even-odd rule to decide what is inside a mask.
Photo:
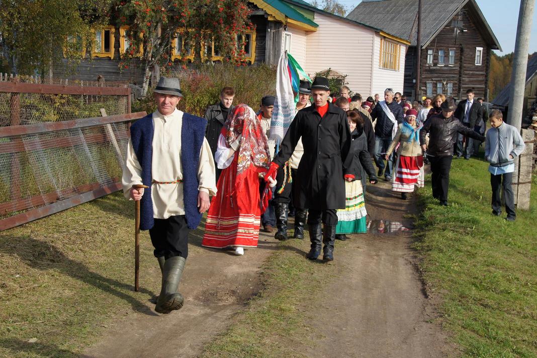
[{"label": "man in dark suit, white shirt and tie behind the outstretched arm", "polygon": [[[483,120],[483,109],[480,103],[474,100],[474,90],[470,89],[466,91],[466,99],[459,102],[457,109],[455,110],[455,118],[459,119],[463,125],[468,128],[474,129]],[[463,138],[465,138],[465,145],[463,148]],[[459,134],[457,136],[457,142],[455,147],[455,154],[457,158],[462,156],[466,160],[470,159],[470,156],[474,153],[474,140],[468,136]]]}]

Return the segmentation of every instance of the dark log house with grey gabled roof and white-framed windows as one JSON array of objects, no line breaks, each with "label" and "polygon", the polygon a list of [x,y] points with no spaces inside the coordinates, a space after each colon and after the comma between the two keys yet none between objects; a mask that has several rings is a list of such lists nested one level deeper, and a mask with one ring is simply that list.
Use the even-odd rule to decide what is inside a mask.
[{"label": "dark log house with grey gabled roof and white-framed windows", "polygon": [[[404,94],[415,98],[417,0],[364,0],[347,18],[410,41]],[[501,50],[475,0],[423,0],[420,95],[462,99],[466,90],[488,101],[491,50]],[[419,94],[418,94],[419,95]]]}]

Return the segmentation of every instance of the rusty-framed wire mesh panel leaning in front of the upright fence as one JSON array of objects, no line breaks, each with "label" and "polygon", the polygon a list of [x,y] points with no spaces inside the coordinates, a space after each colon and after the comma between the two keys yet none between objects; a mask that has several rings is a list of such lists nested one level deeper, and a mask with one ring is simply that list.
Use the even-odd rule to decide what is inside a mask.
[{"label": "rusty-framed wire mesh panel leaning in front of the upright fence", "polygon": [[0,230],[120,189],[128,123],[145,114],[0,128]]}]

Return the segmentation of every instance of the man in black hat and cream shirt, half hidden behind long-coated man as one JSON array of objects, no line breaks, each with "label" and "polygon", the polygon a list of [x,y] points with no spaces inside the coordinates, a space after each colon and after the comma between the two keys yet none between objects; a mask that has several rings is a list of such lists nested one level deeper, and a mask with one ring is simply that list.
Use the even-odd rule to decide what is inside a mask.
[{"label": "man in black hat and cream shirt, half hidden behind long-coated man", "polygon": [[[311,97],[311,83],[309,81],[300,81],[299,85],[299,101],[296,103],[295,116],[300,109],[311,106],[309,98]],[[274,192],[274,207],[276,209],[276,225],[278,231],[274,235],[278,240],[287,240],[287,217],[289,215],[289,203],[295,208],[295,225],[293,238],[304,238],[304,225],[306,225],[306,217],[308,210],[300,207],[297,200],[294,200],[294,194],[299,191],[298,182],[299,174],[298,167],[300,160],[304,155],[304,146],[302,138],[296,143],[295,150],[291,158],[282,167],[278,169],[276,175],[276,191]]]}]

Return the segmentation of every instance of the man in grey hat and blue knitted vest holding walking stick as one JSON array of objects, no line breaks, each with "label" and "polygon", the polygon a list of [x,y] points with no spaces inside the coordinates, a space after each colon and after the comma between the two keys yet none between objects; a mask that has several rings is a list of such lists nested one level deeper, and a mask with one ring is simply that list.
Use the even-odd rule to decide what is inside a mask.
[{"label": "man in grey hat and blue knitted vest holding walking stick", "polygon": [[[127,199],[140,201],[140,229],[149,230],[162,272],[155,311],[183,306],[177,292],[188,255],[188,232],[198,227],[216,194],[215,166],[205,138],[207,121],[176,107],[182,99],[179,79],[161,77],[155,87],[157,111],[130,127],[123,169]],[[136,189],[143,184],[147,189]]]}]

